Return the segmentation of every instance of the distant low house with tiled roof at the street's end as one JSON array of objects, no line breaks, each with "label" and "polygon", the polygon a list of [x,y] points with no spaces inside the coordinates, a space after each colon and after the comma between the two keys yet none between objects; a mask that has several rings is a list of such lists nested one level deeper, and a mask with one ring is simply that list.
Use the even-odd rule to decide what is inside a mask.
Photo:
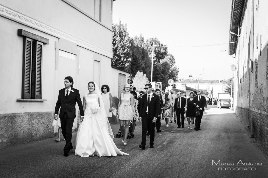
[{"label": "distant low house with tiled roof at the street's end", "polygon": [[[229,83],[229,80],[192,80],[192,78],[190,78],[174,82],[174,85],[176,85],[177,89],[184,91],[191,90],[187,87],[202,90],[203,93],[208,93],[208,96],[211,98],[230,98],[230,95],[225,92],[225,88]],[[187,92],[186,95],[188,95]]]}]

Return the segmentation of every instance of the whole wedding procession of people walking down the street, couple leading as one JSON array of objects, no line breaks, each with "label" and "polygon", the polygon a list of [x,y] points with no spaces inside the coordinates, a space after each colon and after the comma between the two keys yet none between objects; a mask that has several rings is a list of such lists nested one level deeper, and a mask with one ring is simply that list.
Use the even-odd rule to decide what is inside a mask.
[{"label": "whole wedding procession of people walking down the street, couple leading", "polygon": [[[112,95],[108,85],[102,85],[101,90],[94,82],[88,83],[89,93],[83,96],[83,104],[79,91],[73,88],[72,77],[65,77],[65,88],[59,91],[58,100],[54,112],[54,125],[59,126],[59,136],[56,142],[60,142],[60,129],[66,141],[63,149],[64,156],[68,156],[73,149],[71,143],[72,128],[74,125],[75,105],[80,110],[80,125],[75,139],[75,155],[89,156],[116,156],[129,155],[119,150],[113,142],[113,131],[110,127],[112,117]],[[123,135],[122,143],[127,145],[129,125],[132,122],[132,132],[135,130],[136,120],[142,124],[142,138],[139,147],[146,149],[146,137],[150,136],[149,148],[154,147],[155,128],[161,132],[161,119],[165,120],[166,127],[169,123],[177,123],[177,128],[184,128],[184,120],[187,118],[188,129],[201,130],[200,124],[204,108],[209,99],[202,96],[202,90],[194,91],[185,96],[178,92],[174,95],[164,90],[154,90],[151,84],[146,84],[144,91],[136,92],[135,87],[125,84],[119,96],[119,104],[116,118],[120,123]],[[60,110],[60,111],[59,111]],[[59,117],[57,117],[59,112]],[[180,119],[181,118],[181,119]]]}]

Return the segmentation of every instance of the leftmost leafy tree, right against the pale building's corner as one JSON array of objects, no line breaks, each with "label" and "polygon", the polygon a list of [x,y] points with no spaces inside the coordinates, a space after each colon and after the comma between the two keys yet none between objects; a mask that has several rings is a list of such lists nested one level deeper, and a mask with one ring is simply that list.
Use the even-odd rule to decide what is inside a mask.
[{"label": "leftmost leafy tree, right against the pale building's corner", "polygon": [[116,24],[113,23],[112,44],[112,66],[128,71],[131,62],[130,36],[127,25],[122,24],[121,21]]}]

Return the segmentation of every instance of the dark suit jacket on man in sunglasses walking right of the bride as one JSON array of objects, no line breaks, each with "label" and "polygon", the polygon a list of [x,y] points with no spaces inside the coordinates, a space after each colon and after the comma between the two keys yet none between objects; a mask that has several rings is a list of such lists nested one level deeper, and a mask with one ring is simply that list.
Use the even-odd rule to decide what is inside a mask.
[{"label": "dark suit jacket on man in sunglasses walking right of the bride", "polygon": [[[145,94],[141,98],[141,107],[140,107],[140,113],[141,113],[141,118],[143,118],[146,115],[146,110],[148,107],[148,94]],[[158,115],[161,113],[161,108],[160,108],[160,99],[159,96],[153,93],[153,97],[150,100],[150,105],[149,105],[149,116],[151,119],[154,117],[157,118]],[[151,97],[151,96],[150,96]]]}]

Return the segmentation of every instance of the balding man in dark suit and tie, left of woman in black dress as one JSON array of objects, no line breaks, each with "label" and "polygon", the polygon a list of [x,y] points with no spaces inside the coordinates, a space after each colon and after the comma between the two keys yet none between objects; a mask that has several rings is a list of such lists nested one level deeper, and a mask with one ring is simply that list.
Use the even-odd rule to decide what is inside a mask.
[{"label": "balding man in dark suit and tie, left of woman in black dress", "polygon": [[184,128],[184,113],[185,113],[185,106],[186,106],[186,98],[181,96],[181,92],[177,93],[177,98],[175,99],[174,109],[173,111],[176,112],[177,116],[177,128],[180,128],[180,116],[181,116],[181,127]]}]

